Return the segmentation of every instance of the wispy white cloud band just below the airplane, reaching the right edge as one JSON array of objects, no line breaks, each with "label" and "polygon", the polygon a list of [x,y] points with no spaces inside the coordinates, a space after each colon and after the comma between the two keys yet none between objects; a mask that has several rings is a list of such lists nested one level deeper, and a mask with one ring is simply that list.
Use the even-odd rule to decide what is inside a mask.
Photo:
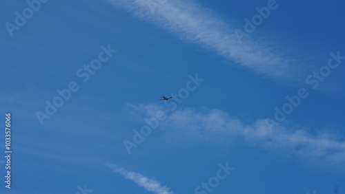
[{"label": "wispy white cloud band just below the airplane, reaching the right edge", "polygon": [[[152,113],[155,111],[167,109],[157,104],[137,107],[132,105],[131,108],[146,118],[154,116],[155,114]],[[270,130],[264,119],[244,124],[219,109],[200,112],[186,108],[176,110],[167,116],[164,122],[159,123],[159,128],[168,129],[169,134],[179,134],[178,136],[170,134],[169,137],[183,136],[213,142],[219,142],[221,138],[225,138],[226,142],[240,140],[284,155],[297,155],[306,162],[314,164],[335,167],[345,164],[345,141],[340,136],[324,132],[327,131],[326,129],[320,131],[295,127],[295,124],[286,122]]]}]

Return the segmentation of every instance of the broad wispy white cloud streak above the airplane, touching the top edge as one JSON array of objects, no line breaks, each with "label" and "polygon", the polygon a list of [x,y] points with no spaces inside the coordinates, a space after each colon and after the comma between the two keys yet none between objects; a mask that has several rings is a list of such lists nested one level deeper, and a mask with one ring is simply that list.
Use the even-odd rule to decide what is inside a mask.
[{"label": "broad wispy white cloud streak above the airplane, touching the top edge", "polygon": [[277,47],[256,41],[240,42],[235,28],[212,10],[194,1],[181,0],[106,0],[135,16],[156,23],[225,58],[277,80],[300,80],[301,63],[279,52]]}]

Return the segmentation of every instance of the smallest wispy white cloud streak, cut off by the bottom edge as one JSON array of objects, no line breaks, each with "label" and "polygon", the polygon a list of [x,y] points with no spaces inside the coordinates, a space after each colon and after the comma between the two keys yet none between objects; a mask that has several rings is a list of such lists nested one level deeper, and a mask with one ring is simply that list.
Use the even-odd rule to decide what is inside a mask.
[{"label": "smallest wispy white cloud streak, cut off by the bottom edge", "polygon": [[115,164],[106,163],[106,166],[112,169],[112,171],[114,171],[115,173],[118,173],[126,179],[131,180],[132,182],[135,182],[135,184],[145,188],[147,191],[151,191],[157,194],[173,194],[173,192],[170,191],[170,188],[161,186],[161,184],[156,180],[150,179],[142,175],[141,173],[127,171],[126,169],[121,168]]}]

